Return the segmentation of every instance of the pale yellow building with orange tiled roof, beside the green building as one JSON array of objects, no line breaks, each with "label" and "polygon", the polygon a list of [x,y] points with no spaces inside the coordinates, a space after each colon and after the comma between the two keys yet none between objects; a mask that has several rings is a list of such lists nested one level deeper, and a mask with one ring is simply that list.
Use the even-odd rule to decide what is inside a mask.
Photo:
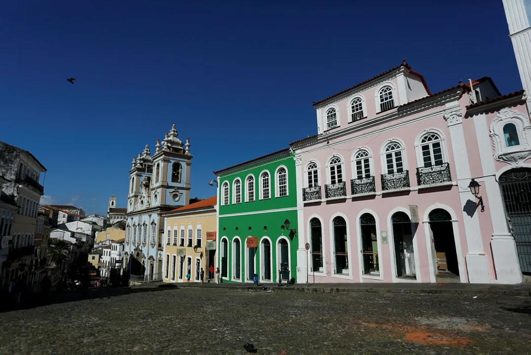
[{"label": "pale yellow building with orange tiled roof, beside the green building", "polygon": [[164,282],[200,282],[209,279],[208,268],[215,265],[216,196],[164,213]]}]

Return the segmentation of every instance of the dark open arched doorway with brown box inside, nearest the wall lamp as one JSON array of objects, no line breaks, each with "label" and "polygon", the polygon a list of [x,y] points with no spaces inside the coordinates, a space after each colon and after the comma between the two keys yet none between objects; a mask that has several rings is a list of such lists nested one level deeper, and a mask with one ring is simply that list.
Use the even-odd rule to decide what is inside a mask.
[{"label": "dark open arched doorway with brown box inside, nearest the wall lamp", "polygon": [[450,213],[443,209],[435,209],[430,212],[428,219],[434,248],[435,280],[456,279],[459,281],[456,239],[453,235]]}]

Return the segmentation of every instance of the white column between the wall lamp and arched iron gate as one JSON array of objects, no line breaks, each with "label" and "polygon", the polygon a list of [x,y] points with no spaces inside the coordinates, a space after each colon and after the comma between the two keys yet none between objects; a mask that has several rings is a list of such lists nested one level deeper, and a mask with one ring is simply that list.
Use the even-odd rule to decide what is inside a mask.
[{"label": "white column between the wall lamp and arched iron gate", "polygon": [[492,158],[492,147],[489,137],[489,128],[485,114],[474,116],[476,140],[479,148],[479,158],[485,185],[485,193],[489,200],[487,210],[492,220],[491,249],[496,270],[496,280],[499,283],[520,283],[522,274],[518,262],[515,239],[512,237],[507,226],[507,217],[503,208],[503,198],[500,186],[494,177],[496,168]]}]

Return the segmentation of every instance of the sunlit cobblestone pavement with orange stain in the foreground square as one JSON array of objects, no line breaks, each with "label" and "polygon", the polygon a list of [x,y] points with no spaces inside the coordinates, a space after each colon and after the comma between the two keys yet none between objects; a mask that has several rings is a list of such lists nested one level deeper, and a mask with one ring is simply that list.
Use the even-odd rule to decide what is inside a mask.
[{"label": "sunlit cobblestone pavement with orange stain in the foreground square", "polygon": [[186,286],[90,297],[0,314],[0,353],[531,352],[529,297]]}]

